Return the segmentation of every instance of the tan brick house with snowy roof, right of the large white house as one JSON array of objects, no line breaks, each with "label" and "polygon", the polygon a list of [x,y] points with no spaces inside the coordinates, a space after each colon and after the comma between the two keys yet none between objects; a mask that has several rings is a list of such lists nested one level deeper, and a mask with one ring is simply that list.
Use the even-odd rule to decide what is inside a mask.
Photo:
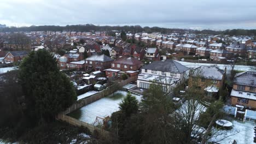
[{"label": "tan brick house with snowy roof, right of the large white house", "polygon": [[204,89],[208,97],[217,97],[219,89],[223,89],[226,70],[218,67],[201,66],[189,75],[189,88]]}]

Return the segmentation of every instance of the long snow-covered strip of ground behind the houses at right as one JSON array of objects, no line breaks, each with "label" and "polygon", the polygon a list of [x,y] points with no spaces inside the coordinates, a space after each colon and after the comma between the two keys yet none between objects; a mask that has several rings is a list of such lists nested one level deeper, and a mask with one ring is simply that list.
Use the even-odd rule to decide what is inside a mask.
[{"label": "long snow-covered strip of ground behind the houses at right", "polygon": [[[230,71],[232,68],[229,64],[213,64],[213,63],[190,63],[190,62],[182,62],[182,61],[176,61],[182,65],[185,65],[188,68],[197,68],[200,67],[201,65],[205,66],[211,66],[211,65],[216,65],[220,69],[224,70],[226,67],[227,71]],[[248,65],[235,65],[234,70],[243,70],[243,71],[256,71],[253,69],[253,66],[248,66]]]}]

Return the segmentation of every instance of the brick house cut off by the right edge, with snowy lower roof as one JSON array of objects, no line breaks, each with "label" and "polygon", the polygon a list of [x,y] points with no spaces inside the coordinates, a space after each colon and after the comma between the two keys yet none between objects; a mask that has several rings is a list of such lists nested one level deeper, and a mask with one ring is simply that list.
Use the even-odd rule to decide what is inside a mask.
[{"label": "brick house cut off by the right edge, with snowy lower roof", "polygon": [[236,74],[230,97],[234,106],[256,109],[256,72],[246,71]]}]

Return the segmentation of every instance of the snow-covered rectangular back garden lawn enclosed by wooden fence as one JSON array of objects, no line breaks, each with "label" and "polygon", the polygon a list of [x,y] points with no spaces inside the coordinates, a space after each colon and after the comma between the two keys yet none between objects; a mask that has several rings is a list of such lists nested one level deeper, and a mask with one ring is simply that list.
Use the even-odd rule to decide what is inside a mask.
[{"label": "snow-covered rectangular back garden lawn enclosed by wooden fence", "polygon": [[[113,112],[119,110],[119,103],[124,99],[127,92],[117,91],[114,94],[114,96],[111,94],[105,98],[95,101],[94,103],[86,105],[77,111],[69,113],[68,115],[90,124],[95,122],[96,117],[104,118],[111,116]],[[135,96],[139,101],[142,98],[139,95],[133,96]]]}]

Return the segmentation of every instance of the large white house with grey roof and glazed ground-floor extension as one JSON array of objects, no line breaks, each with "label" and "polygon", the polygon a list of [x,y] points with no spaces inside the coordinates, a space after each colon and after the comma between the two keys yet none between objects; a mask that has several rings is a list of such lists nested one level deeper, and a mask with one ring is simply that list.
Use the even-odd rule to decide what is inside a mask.
[{"label": "large white house with grey roof and glazed ground-floor extension", "polygon": [[187,79],[188,68],[168,59],[155,61],[141,68],[138,75],[137,87],[148,89],[152,82],[160,83],[165,92],[170,92],[179,83]]}]

